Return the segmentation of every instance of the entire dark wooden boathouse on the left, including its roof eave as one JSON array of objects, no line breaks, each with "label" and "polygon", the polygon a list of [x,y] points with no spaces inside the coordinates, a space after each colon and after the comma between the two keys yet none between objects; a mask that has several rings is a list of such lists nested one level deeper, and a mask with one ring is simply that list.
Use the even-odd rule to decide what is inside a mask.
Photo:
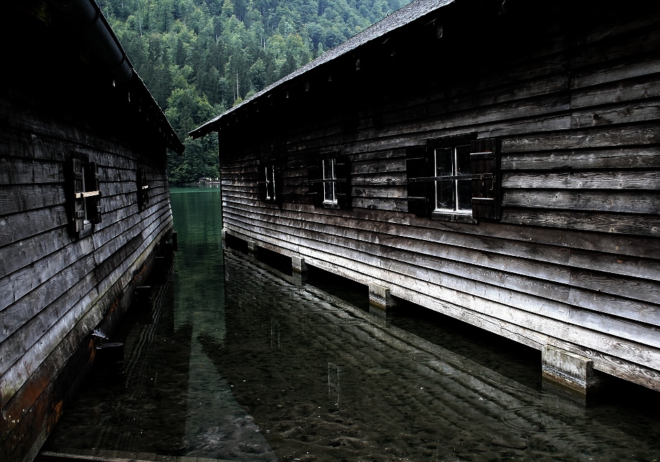
[{"label": "entire dark wooden boathouse on the left, including its roof eave", "polygon": [[0,461],[30,461],[172,234],[183,145],[93,0],[0,34]]}]

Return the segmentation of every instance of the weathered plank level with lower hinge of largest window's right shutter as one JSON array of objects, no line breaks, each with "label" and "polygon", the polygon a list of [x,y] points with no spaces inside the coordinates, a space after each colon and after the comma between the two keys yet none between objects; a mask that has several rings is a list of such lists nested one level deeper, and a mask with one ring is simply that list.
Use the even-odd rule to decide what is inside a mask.
[{"label": "weathered plank level with lower hinge of largest window's right shutter", "polygon": [[599,190],[505,189],[502,192],[502,205],[505,207],[658,214],[660,213],[660,192],[620,190],[614,193]]}]

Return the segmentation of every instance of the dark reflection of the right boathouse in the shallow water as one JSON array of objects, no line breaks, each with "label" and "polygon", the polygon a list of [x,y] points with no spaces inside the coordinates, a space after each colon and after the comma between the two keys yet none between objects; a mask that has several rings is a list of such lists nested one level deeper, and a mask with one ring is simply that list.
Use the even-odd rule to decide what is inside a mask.
[{"label": "dark reflection of the right boathouse in the shallow water", "polygon": [[488,354],[481,347],[451,351],[377,325],[337,296],[288,283],[291,276],[231,249],[225,262],[226,340],[204,340],[203,349],[280,457],[356,460],[387,448],[414,460],[493,460],[504,451],[614,461],[660,450],[658,428],[638,437],[618,417],[590,417],[473,362]]}]

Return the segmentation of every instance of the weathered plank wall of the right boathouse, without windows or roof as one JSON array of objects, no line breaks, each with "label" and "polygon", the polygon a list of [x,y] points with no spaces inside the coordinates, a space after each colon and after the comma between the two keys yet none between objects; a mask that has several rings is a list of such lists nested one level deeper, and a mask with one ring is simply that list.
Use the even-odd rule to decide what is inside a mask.
[{"label": "weathered plank wall of the right boathouse, without windows or roof", "polygon": [[[257,201],[253,171],[274,140],[253,142],[232,122],[221,146],[247,141],[221,157],[226,229],[659,389],[660,20],[645,13],[657,5],[562,8],[520,24],[526,43],[513,30],[491,31],[493,49],[469,59],[449,39],[437,43],[451,73],[423,59],[428,50],[411,31],[408,53],[396,58],[405,72],[365,65],[363,75],[373,73],[364,81],[338,79],[300,103],[327,111],[273,111],[290,122],[278,139],[286,144],[279,207]],[[405,90],[392,91],[395,82]],[[335,98],[350,104],[335,107]],[[263,117],[255,123],[267,126]],[[470,133],[502,142],[502,219],[408,213],[406,149]],[[305,200],[307,163],[330,151],[352,162],[350,210]]]}]

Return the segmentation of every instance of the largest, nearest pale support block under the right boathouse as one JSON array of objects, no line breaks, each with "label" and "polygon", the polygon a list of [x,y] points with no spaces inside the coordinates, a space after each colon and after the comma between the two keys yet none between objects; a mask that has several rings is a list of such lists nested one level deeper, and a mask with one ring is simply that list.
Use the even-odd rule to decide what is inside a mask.
[{"label": "largest, nearest pale support block under the right boathouse", "polygon": [[604,377],[593,369],[593,361],[551,345],[541,351],[544,388],[567,391],[579,399],[586,399],[601,388]]}]

